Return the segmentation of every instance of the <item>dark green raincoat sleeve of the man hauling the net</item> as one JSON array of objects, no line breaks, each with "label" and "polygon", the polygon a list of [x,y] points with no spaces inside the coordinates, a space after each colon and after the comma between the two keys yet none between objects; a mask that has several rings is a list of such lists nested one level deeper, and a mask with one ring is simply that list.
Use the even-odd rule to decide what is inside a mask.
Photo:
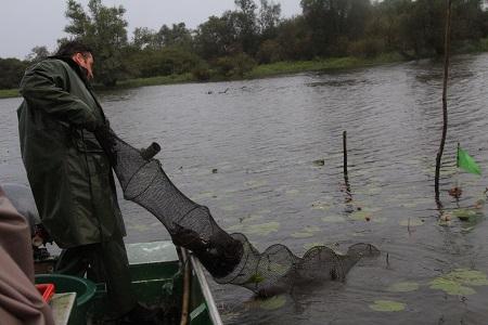
[{"label": "dark green raincoat sleeve of the man hauling the net", "polygon": [[52,117],[93,131],[101,122],[87,104],[65,90],[66,78],[62,63],[44,61],[25,73],[21,93],[29,105]]}]

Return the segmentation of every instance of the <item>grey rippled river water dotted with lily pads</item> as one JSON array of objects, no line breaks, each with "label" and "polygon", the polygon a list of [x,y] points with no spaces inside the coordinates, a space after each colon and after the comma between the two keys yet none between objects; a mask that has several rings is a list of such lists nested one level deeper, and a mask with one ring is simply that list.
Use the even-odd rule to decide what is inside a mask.
[{"label": "grey rippled river water dotted with lily pads", "polygon": [[[488,317],[488,54],[453,60],[439,220],[435,156],[441,132],[440,63],[422,61],[333,74],[147,87],[101,94],[127,142],[162,145],[180,190],[257,248],[300,256],[367,242],[382,251],[345,283],[270,301],[213,284],[226,324],[485,324]],[[0,101],[0,182],[26,183],[17,139],[20,99]],[[344,193],[348,134],[352,200]],[[457,172],[457,142],[485,170]],[[323,166],[321,160],[323,160]],[[455,202],[447,193],[459,184]],[[127,242],[168,238],[124,202]],[[460,221],[457,216],[468,216]],[[394,311],[391,311],[394,310]]]}]

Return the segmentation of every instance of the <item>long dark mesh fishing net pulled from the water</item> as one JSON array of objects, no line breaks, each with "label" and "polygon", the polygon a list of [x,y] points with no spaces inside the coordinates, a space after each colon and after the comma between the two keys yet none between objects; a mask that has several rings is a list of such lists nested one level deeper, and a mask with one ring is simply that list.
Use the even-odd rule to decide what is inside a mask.
[{"label": "long dark mesh fishing net pulled from the water", "polygon": [[284,245],[259,252],[240,233],[228,234],[214,220],[209,209],[181,193],[153,156],[159,146],[137,150],[110,128],[97,131],[97,139],[113,165],[124,197],[153,213],[168,230],[172,242],[191,250],[217,283],[246,287],[262,296],[287,290],[294,284],[344,280],[361,257],[376,256],[370,244],[349,247],[338,255],[325,246],[309,249],[303,258]]}]

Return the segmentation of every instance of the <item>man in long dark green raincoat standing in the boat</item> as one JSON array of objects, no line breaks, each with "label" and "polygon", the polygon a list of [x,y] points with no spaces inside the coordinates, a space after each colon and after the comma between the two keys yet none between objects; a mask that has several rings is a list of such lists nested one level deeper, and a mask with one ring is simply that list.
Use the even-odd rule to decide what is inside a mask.
[{"label": "man in long dark green raincoat standing in the boat", "polygon": [[105,282],[114,316],[144,324],[111,165],[94,136],[107,121],[88,81],[91,52],[67,42],[26,70],[17,110],[22,158],[42,223],[63,248],[56,271]]}]

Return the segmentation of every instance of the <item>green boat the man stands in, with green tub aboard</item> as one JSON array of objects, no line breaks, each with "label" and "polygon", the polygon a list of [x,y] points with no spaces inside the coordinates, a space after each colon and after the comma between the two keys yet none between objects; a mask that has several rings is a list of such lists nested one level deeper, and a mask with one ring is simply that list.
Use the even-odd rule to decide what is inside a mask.
[{"label": "green boat the man stands in, with green tub aboard", "polygon": [[[177,251],[171,242],[128,244],[126,248],[137,299],[163,307],[167,316],[162,324],[222,324],[197,259],[185,250]],[[38,271],[46,271],[48,264],[38,261]],[[51,300],[56,325],[104,324],[105,284],[57,274],[36,275],[36,282],[56,287]]]}]

